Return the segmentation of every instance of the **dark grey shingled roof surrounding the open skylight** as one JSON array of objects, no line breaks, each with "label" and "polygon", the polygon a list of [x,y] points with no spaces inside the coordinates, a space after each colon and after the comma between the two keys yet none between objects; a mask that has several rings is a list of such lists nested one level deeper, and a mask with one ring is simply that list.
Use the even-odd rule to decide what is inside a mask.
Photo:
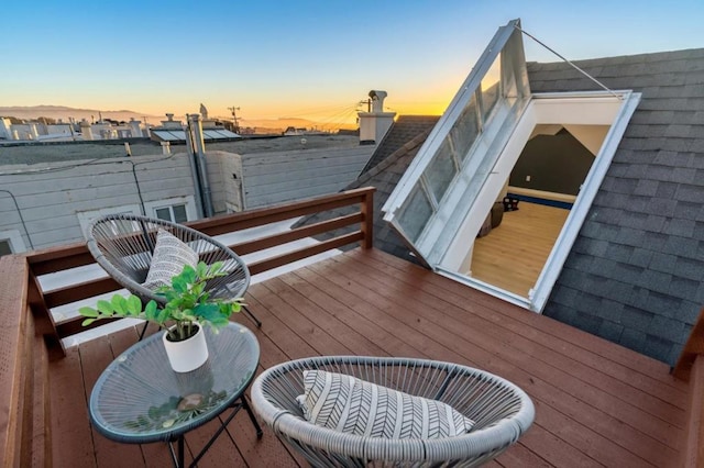
[{"label": "dark grey shingled roof surrounding the open skylight", "polygon": [[[673,364],[704,304],[704,48],[575,64],[642,99],[543,313]],[[534,92],[598,89],[564,63],[528,75]],[[409,260],[381,207],[428,133],[385,140],[350,186],[376,187],[375,247]]]}]

